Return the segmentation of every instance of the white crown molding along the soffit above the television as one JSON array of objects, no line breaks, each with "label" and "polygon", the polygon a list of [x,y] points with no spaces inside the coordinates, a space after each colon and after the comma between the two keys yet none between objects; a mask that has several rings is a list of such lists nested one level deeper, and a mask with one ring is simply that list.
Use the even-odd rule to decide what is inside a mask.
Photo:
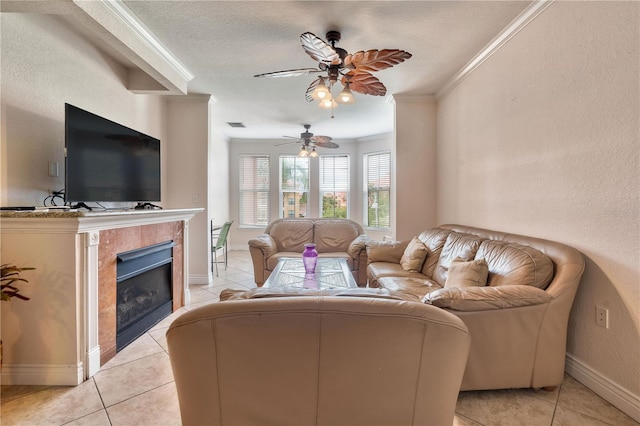
[{"label": "white crown molding along the soffit above the television", "polygon": [[121,0],[99,0],[116,18],[123,22],[143,43],[166,62],[185,81],[191,81],[195,77],[169,51],[156,36],[135,16]]}]

